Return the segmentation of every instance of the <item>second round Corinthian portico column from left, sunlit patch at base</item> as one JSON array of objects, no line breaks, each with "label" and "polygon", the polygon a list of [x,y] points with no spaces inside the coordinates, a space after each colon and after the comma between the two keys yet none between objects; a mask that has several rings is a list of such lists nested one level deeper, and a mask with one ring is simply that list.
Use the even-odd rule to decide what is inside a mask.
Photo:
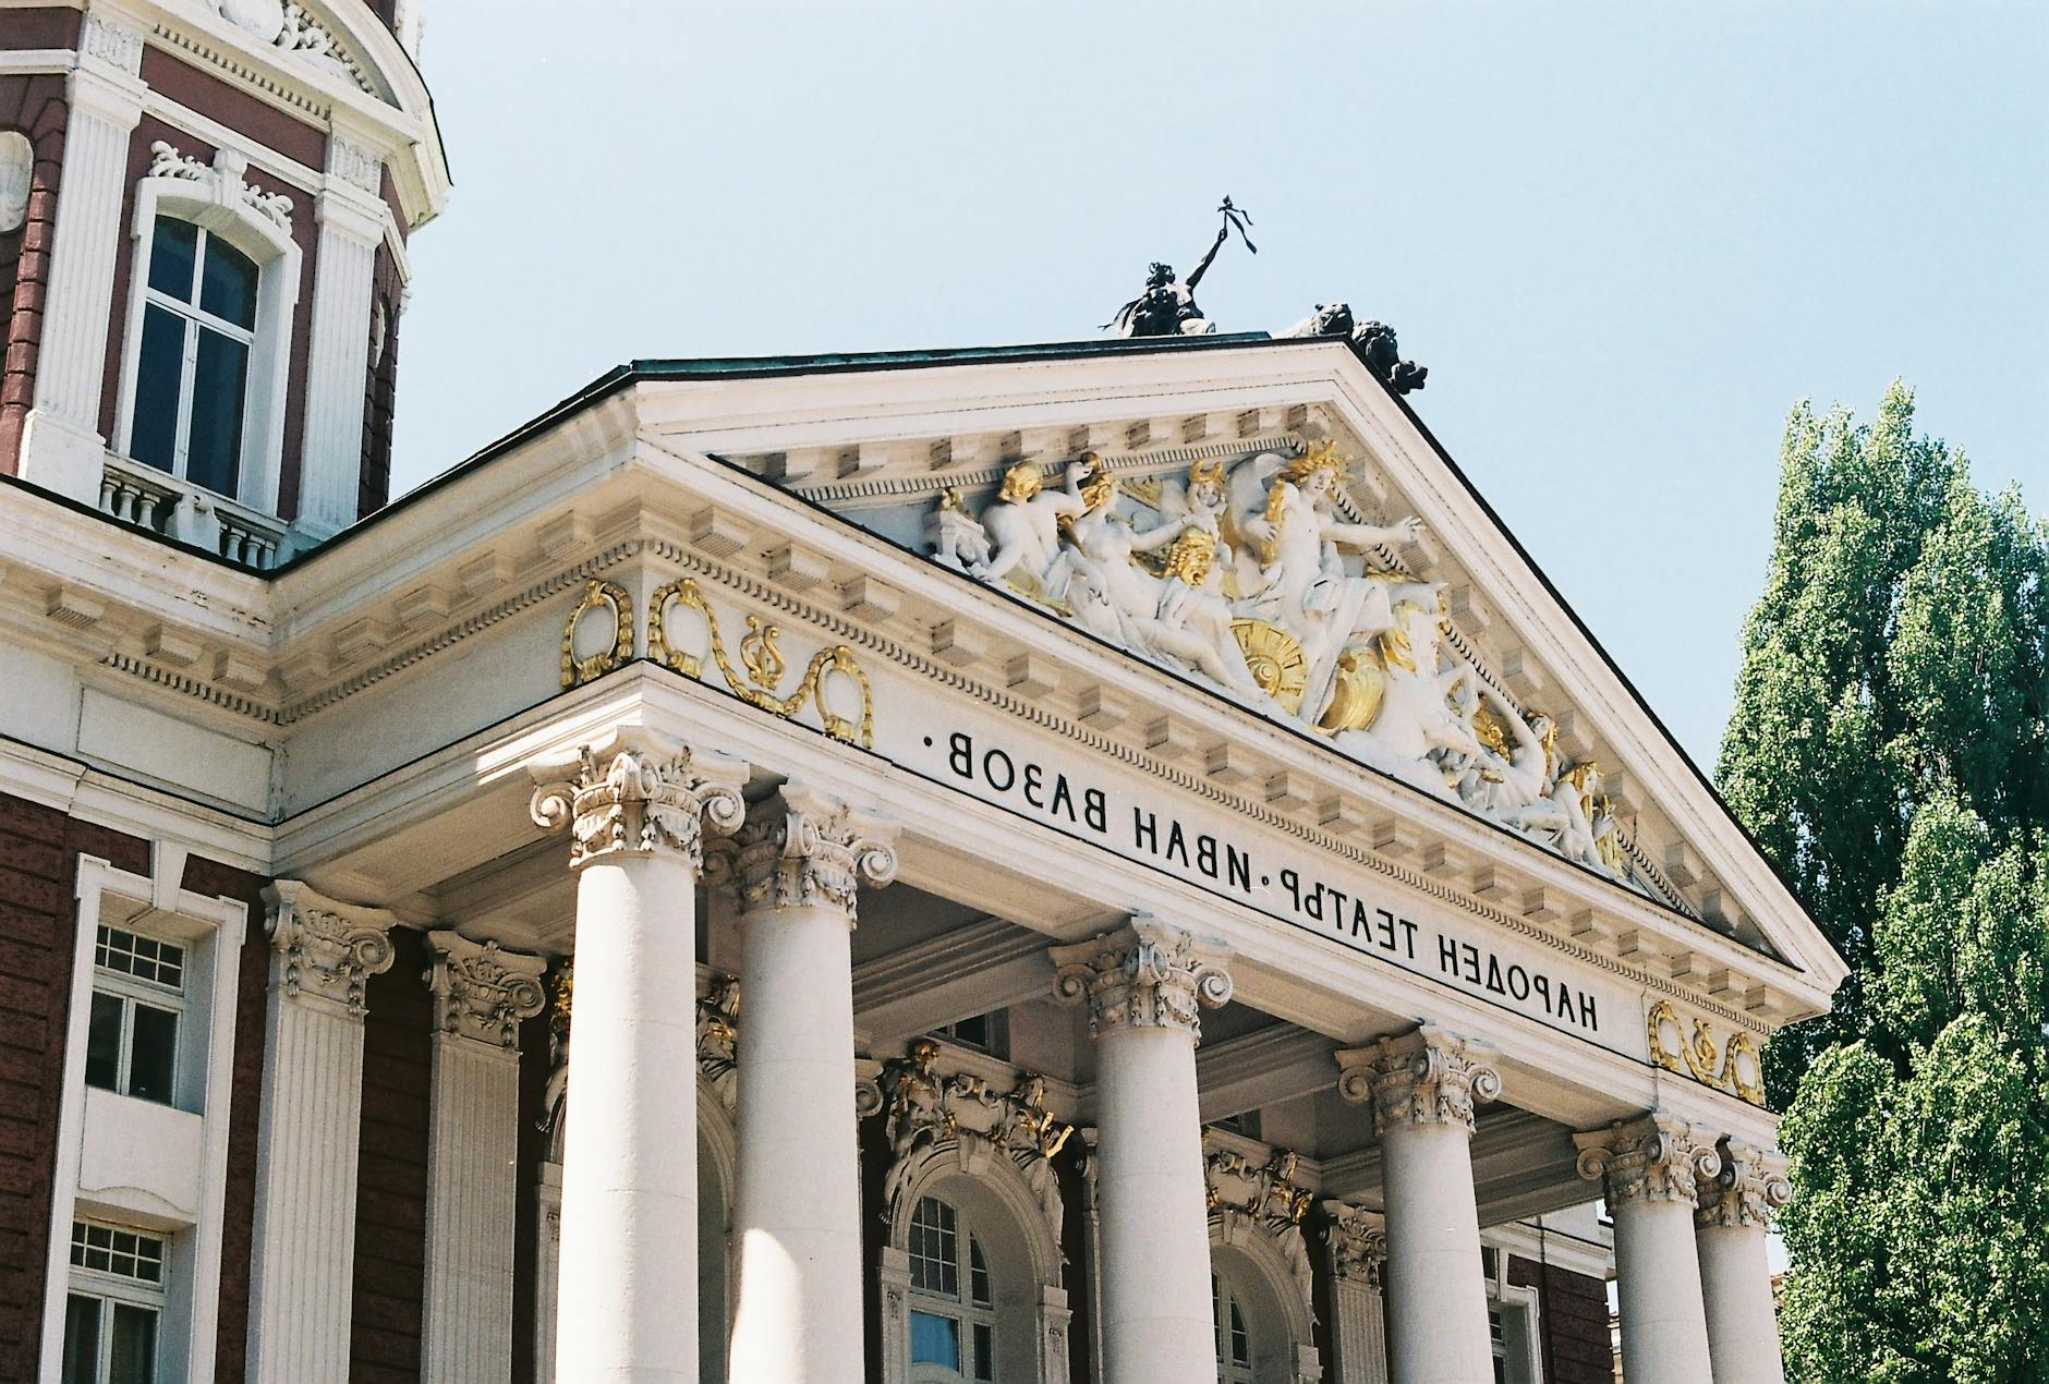
[{"label": "second round Corinthian portico column from left, sunlit patch at base", "polygon": [[797,782],[740,831],[740,1306],[731,1378],[859,1380],[854,895],[895,827]]}]

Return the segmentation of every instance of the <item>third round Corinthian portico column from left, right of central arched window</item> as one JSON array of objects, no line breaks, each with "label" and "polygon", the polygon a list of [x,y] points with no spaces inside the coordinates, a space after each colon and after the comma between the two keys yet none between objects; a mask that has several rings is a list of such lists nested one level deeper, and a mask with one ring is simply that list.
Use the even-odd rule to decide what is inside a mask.
[{"label": "third round Corinthian portico column from left, right of central arched window", "polygon": [[1195,1104],[1197,1005],[1231,997],[1223,956],[1152,917],[1055,946],[1053,995],[1096,1040],[1102,1378],[1217,1378],[1209,1181]]}]

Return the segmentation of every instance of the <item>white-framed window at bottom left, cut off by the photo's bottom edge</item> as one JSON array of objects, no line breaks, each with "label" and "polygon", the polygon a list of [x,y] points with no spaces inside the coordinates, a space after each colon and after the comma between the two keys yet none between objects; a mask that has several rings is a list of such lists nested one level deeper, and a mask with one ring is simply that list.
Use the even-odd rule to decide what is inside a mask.
[{"label": "white-framed window at bottom left, cut off by the photo's bottom edge", "polygon": [[72,1222],[61,1384],[154,1384],[164,1278],[162,1239]]}]

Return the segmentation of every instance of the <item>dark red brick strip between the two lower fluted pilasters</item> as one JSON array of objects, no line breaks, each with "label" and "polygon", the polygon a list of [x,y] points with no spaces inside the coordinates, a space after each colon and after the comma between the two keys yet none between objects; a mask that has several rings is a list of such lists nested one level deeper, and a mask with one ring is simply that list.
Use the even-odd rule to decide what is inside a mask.
[{"label": "dark red brick strip between the two lower fluted pilasters", "polygon": [[391,968],[371,977],[365,997],[348,1378],[398,1384],[420,1378],[432,1003],[420,981],[426,968],[420,934],[395,929],[391,948]]}]

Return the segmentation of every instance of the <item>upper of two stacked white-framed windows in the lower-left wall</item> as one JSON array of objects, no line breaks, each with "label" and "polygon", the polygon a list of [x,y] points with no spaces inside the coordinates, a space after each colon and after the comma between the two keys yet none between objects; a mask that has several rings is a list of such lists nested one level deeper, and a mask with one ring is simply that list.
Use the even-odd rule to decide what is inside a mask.
[{"label": "upper of two stacked white-framed windows in the lower-left wall", "polygon": [[182,944],[98,925],[92,942],[86,1085],[176,1104],[184,979]]}]

